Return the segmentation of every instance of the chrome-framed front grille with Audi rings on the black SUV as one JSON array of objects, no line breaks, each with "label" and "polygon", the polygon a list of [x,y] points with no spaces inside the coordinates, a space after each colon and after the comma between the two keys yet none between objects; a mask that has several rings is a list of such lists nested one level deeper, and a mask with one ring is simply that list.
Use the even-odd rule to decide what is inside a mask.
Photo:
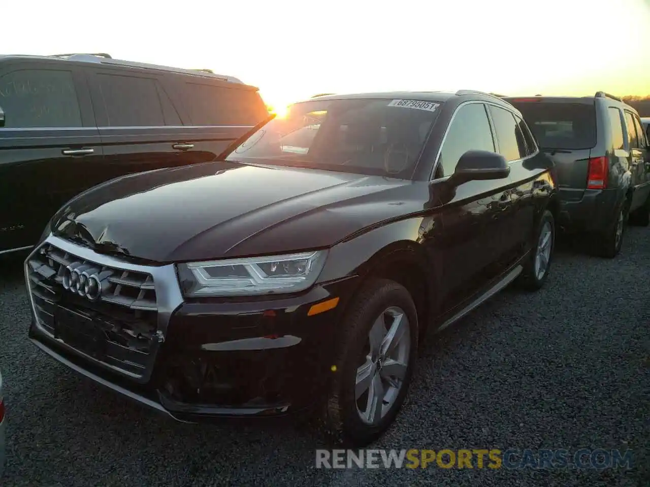
[{"label": "chrome-framed front grille with Audi rings on the black SUV", "polygon": [[[72,271],[95,277],[101,293],[71,286]],[[173,264],[133,264],[50,235],[25,261],[25,277],[41,339],[136,382],[151,379],[183,302]]]}]

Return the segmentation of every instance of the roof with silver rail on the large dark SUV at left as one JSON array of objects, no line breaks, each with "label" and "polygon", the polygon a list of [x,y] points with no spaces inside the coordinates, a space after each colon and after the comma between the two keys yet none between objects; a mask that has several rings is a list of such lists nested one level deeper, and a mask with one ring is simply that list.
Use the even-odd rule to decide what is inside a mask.
[{"label": "roof with silver rail on the large dark SUV at left", "polygon": [[115,68],[140,68],[148,69],[151,71],[165,71],[168,73],[177,73],[183,75],[190,75],[196,77],[203,77],[209,79],[216,79],[217,81],[226,81],[236,84],[244,84],[240,79],[228,75],[220,75],[213,73],[210,69],[184,69],[184,68],[173,68],[172,66],[161,66],[158,64],[148,64],[144,62],[133,62],[122,59],[114,59],[112,56],[105,53],[94,53],[94,54],[59,54],[51,56],[36,56],[36,55],[1,55],[0,62],[6,60],[31,60],[31,61],[49,61],[49,62],[62,62],[62,63],[96,63],[103,66],[110,66]]}]

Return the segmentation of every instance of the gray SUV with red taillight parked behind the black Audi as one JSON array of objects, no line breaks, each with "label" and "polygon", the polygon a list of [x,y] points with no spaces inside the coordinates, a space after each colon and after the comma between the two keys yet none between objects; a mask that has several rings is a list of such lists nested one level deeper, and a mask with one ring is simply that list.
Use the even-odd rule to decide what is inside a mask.
[{"label": "gray SUV with red taillight parked behind the black Audi", "polygon": [[560,226],[591,234],[599,255],[616,256],[628,219],[650,221],[648,140],[638,112],[603,92],[504,98],[555,163]]}]

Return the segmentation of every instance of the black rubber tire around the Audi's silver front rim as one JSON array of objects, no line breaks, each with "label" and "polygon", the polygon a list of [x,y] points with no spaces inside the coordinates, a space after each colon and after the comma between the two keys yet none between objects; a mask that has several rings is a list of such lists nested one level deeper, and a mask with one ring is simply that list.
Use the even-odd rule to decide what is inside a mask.
[{"label": "black rubber tire around the Audi's silver front rim", "polygon": [[[357,410],[357,369],[363,364],[369,332],[383,310],[397,306],[404,310],[409,323],[410,351],[406,374],[393,405],[375,425],[364,423]],[[393,423],[406,397],[417,356],[418,322],[413,299],[404,286],[387,279],[367,282],[356,295],[341,323],[340,348],[335,360],[326,419],[333,439],[338,443],[363,447],[373,442]],[[406,338],[404,338],[406,340]],[[359,363],[361,362],[361,363]],[[363,400],[363,396],[361,397]]]}]

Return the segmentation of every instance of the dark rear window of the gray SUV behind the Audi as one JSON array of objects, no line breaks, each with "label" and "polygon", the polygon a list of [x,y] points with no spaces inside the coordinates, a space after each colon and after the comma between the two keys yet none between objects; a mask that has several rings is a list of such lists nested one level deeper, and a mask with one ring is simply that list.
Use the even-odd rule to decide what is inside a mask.
[{"label": "dark rear window of the gray SUV behind the Audi", "polygon": [[591,149],[596,145],[596,112],[586,103],[510,101],[523,115],[540,147]]}]

